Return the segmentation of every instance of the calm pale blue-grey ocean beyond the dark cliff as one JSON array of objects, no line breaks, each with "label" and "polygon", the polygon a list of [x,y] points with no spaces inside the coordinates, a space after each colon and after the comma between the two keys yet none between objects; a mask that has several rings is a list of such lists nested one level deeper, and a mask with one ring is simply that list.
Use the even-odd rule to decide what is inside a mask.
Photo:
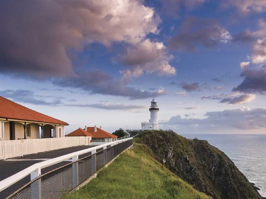
[{"label": "calm pale blue-grey ocean beyond the dark cliff", "polygon": [[260,188],[260,195],[266,197],[266,135],[183,134],[182,136],[207,140],[223,151],[246,178]]}]

